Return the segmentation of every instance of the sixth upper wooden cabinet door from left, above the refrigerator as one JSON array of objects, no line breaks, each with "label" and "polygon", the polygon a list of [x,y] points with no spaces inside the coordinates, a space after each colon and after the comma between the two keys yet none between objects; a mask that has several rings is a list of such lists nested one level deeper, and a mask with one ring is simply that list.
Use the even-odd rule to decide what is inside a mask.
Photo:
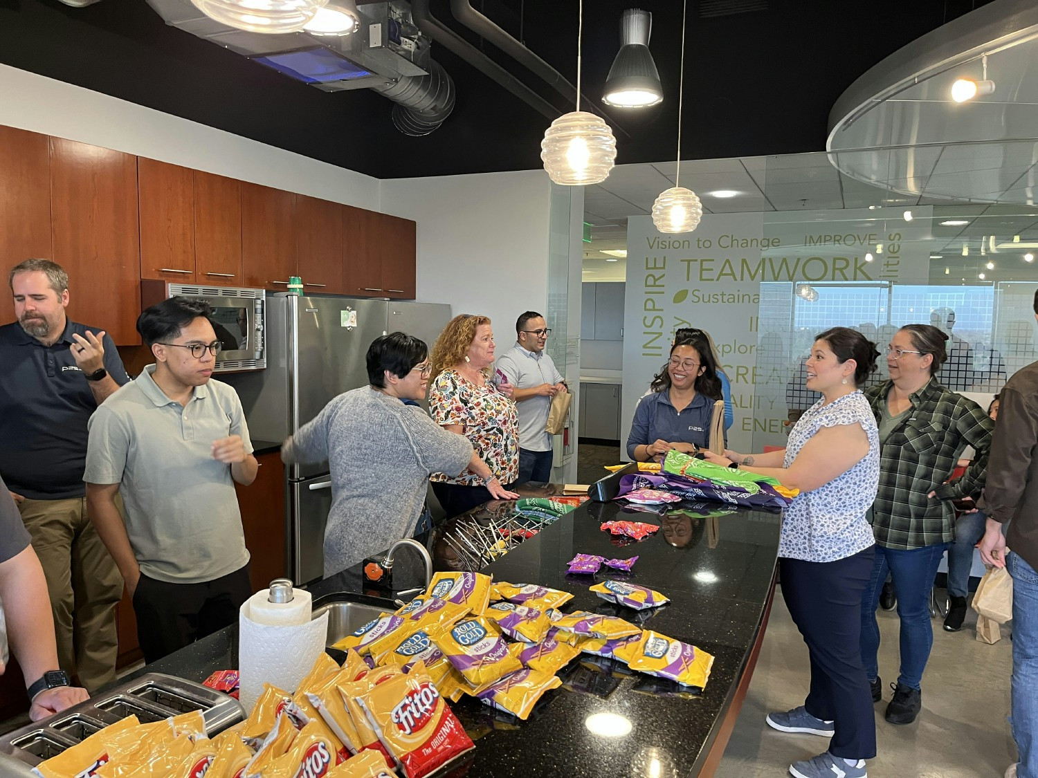
[{"label": "sixth upper wooden cabinet door from left, above the refrigerator", "polygon": [[296,267],[305,295],[345,295],[343,206],[296,196]]}]

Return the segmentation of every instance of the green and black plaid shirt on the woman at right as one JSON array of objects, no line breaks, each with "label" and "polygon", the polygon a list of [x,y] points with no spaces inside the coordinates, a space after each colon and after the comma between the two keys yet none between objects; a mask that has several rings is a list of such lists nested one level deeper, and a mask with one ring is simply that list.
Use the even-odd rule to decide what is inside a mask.
[{"label": "green and black plaid shirt on the woman at right", "polygon": [[[878,423],[894,382],[865,390]],[[921,549],[955,539],[951,500],[980,493],[994,422],[972,399],[936,379],[909,396],[912,410],[886,437],[879,452],[879,493],[873,504],[876,543],[889,549]],[[965,474],[945,483],[958,454],[977,451]],[[936,492],[937,497],[927,495]]]}]

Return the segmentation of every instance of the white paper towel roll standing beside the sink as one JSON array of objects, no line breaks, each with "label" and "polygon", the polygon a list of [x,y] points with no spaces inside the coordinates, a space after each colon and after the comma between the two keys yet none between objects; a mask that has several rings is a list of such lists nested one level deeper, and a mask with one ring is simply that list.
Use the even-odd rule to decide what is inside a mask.
[{"label": "white paper towel roll standing beside the sink", "polygon": [[295,692],[325,649],[328,614],[304,624],[261,624],[249,615],[249,603],[238,616],[239,701],[251,713],[264,684]]}]

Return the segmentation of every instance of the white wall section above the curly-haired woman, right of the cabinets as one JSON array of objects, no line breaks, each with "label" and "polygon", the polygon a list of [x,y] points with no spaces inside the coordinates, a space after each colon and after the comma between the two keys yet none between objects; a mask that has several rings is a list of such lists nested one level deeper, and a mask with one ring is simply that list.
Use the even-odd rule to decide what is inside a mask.
[{"label": "white wall section above the curly-haired woman, right of the cabinets", "polygon": [[418,300],[490,316],[500,353],[547,308],[550,197],[543,170],[391,178],[381,211],[418,223]]}]

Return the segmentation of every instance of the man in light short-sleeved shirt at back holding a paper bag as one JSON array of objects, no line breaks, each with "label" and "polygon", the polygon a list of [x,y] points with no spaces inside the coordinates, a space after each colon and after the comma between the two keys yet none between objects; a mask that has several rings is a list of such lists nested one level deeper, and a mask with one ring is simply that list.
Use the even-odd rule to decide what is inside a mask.
[{"label": "man in light short-sleeved shirt at back holding a paper bag", "polygon": [[528,310],[516,322],[516,344],[494,366],[515,387],[512,399],[519,411],[519,477],[516,483],[551,480],[551,436],[545,432],[551,399],[566,391],[562,374],[544,351],[548,343],[544,316]]}]

